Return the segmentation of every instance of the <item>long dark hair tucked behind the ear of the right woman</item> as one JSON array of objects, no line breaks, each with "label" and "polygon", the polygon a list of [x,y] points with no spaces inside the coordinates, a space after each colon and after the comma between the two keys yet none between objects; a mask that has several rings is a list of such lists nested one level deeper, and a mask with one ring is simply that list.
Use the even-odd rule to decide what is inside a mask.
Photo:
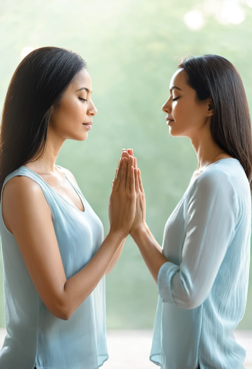
[{"label": "long dark hair tucked behind the ear of the right woman", "polygon": [[232,63],[218,55],[184,58],[179,68],[196,90],[199,103],[211,98],[214,115],[211,135],[225,152],[243,166],[252,190],[252,133],[248,101],[241,77]]}]

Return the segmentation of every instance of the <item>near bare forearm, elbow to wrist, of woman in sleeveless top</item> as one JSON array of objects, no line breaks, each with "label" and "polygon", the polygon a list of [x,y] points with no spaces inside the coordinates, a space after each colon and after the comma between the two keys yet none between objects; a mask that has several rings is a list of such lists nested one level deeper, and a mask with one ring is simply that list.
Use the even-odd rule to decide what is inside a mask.
[{"label": "near bare forearm, elbow to wrist, of woman in sleeveless top", "polygon": [[123,239],[119,232],[109,232],[90,261],[78,273],[67,279],[64,284],[63,306],[68,318],[102,279]]}]

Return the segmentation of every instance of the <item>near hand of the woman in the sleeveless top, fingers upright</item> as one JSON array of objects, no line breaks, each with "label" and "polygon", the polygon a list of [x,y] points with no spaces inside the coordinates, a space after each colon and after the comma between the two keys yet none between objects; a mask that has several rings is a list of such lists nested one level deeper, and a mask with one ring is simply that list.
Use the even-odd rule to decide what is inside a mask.
[{"label": "near hand of the woman in the sleeveless top, fingers upright", "polygon": [[111,231],[121,232],[125,238],[129,234],[136,213],[136,188],[134,158],[123,157],[116,170],[109,197],[109,222]]}]

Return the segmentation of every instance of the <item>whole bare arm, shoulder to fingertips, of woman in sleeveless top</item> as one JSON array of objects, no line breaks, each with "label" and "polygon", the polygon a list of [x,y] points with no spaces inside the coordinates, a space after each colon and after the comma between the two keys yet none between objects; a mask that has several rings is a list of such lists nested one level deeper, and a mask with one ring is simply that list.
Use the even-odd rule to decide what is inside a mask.
[{"label": "whole bare arm, shoulder to fingertips, of woman in sleeveless top", "polygon": [[94,290],[129,234],[136,208],[132,162],[133,158],[128,169],[127,159],[123,162],[122,174],[111,194],[113,221],[108,235],[84,268],[69,279],[64,272],[52,212],[39,184],[29,177],[15,176],[4,186],[4,221],[17,241],[43,303],[60,319],[69,319]]}]

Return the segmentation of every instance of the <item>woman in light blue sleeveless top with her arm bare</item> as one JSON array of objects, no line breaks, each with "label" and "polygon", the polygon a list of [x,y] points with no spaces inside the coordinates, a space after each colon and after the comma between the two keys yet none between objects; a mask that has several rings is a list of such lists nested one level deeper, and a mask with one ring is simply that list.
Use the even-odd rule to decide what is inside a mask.
[{"label": "woman in light blue sleeveless top with her arm bare", "polygon": [[71,51],[39,48],[8,87],[0,131],[1,369],[97,369],[108,359],[105,274],[134,222],[137,169],[123,154],[104,239],[73,174],[55,165],[66,139],[87,139],[97,113],[85,67]]}]

